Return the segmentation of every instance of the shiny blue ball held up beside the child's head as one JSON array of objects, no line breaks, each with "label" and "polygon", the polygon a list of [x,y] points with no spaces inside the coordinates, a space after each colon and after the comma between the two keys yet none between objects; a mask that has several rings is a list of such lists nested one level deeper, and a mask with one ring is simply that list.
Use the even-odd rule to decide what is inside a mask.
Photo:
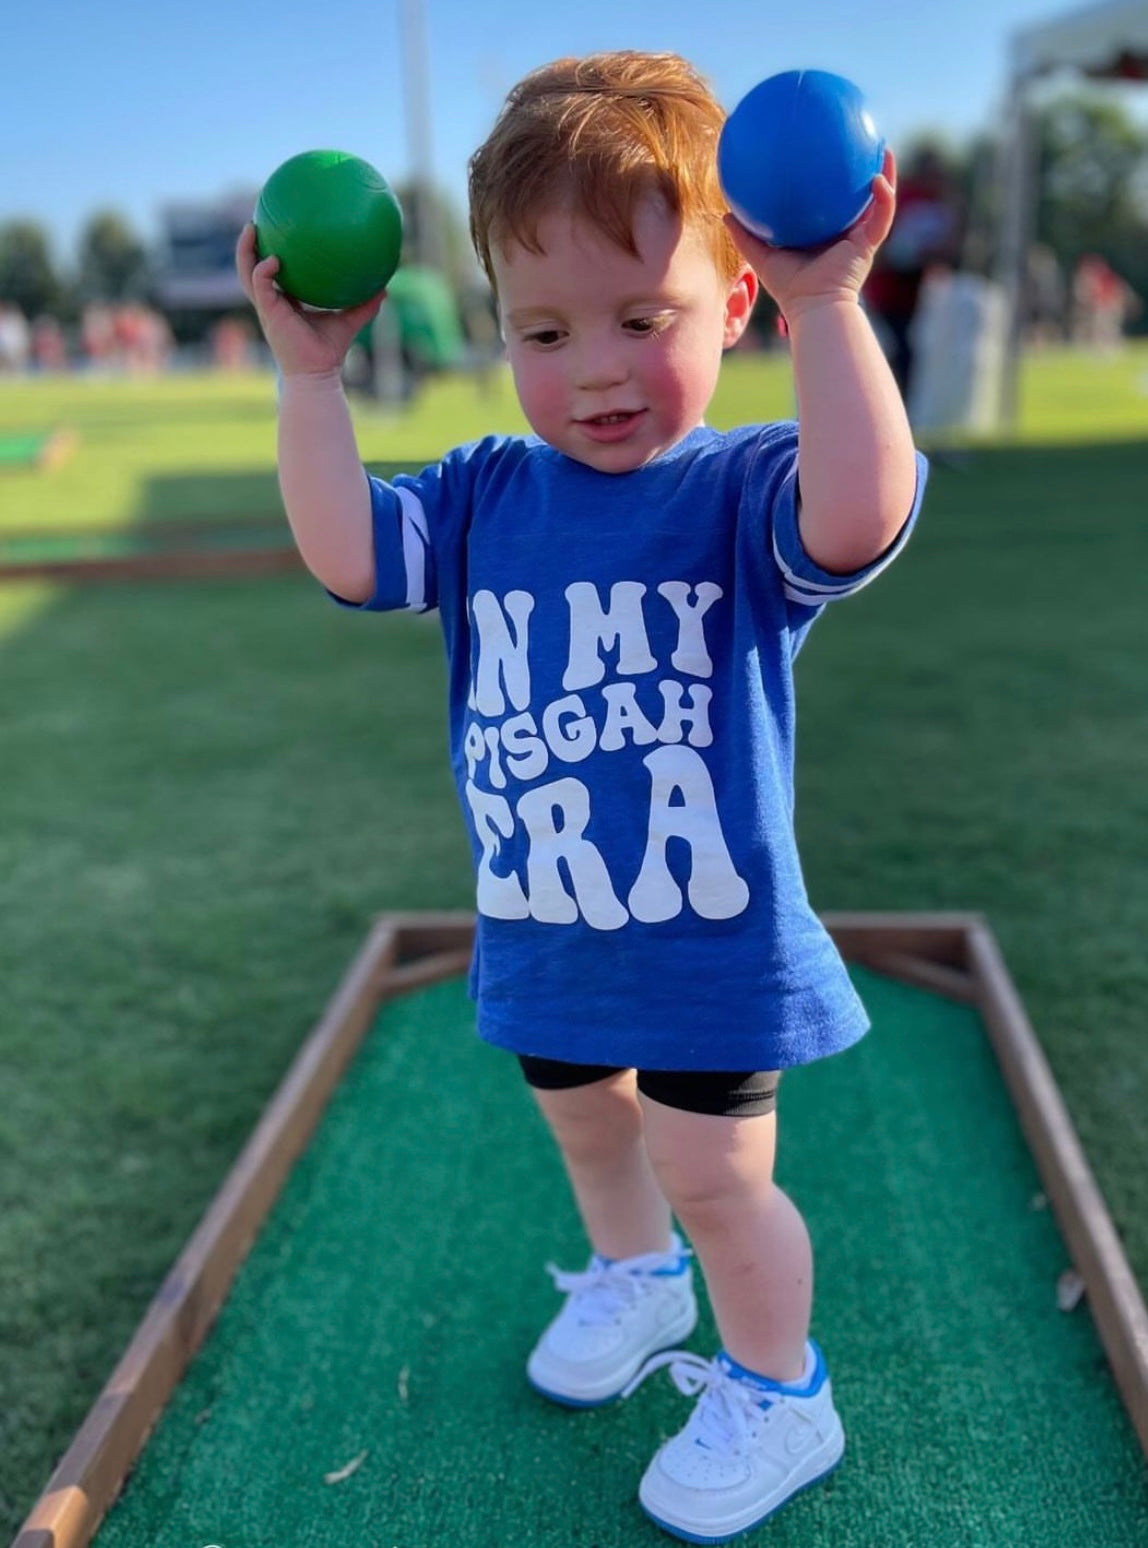
[{"label": "shiny blue ball held up beside the child's head", "polygon": [[788,70],[753,87],[718,142],[730,209],[774,248],[820,248],[848,231],[883,159],[865,98],[826,70]]}]

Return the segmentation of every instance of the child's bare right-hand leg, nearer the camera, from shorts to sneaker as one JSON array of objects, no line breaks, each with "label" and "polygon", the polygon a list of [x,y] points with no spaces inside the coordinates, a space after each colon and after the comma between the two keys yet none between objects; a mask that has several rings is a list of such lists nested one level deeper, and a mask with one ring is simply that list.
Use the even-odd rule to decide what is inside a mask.
[{"label": "child's bare right-hand leg, nearer the camera, from shorts to sneaker", "polygon": [[774,1183],[777,1113],[715,1118],[639,1101],[653,1170],[698,1254],[726,1351],[761,1376],[798,1381],[812,1251]]}]

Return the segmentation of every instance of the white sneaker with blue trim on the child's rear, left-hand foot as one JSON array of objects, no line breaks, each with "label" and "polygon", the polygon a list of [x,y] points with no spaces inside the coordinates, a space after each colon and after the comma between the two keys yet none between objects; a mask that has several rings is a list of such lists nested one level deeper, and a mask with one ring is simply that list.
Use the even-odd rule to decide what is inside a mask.
[{"label": "white sneaker with blue trim on the child's rear, left-hand foot", "polygon": [[693,1333],[698,1303],[690,1255],[675,1235],[670,1252],[594,1254],[582,1274],[548,1263],[566,1303],[526,1362],[531,1385],[574,1409],[617,1398],[650,1354]]}]

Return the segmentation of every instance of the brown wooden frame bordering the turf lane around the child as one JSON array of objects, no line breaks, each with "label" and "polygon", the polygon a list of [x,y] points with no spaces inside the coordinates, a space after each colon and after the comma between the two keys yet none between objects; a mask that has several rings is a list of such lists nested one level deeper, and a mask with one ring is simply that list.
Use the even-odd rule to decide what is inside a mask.
[{"label": "brown wooden frame bordering the turf lane around the child", "polygon": [[[978,1006],[1148,1454],[1148,1311],[989,926],[976,913],[831,913],[825,923],[846,960]],[[376,921],[12,1548],[90,1543],[379,1003],[463,972],[472,937],[470,913],[393,913]]]}]

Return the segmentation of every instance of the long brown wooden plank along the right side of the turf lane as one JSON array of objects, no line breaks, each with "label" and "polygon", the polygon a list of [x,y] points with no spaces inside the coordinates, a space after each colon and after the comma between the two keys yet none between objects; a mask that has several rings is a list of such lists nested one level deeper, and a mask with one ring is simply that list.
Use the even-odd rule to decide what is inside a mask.
[{"label": "long brown wooden plank along the right side of the turf lane", "polygon": [[969,960],[981,1015],[1021,1128],[1148,1455],[1148,1310],[1021,997],[984,924],[970,930]]}]

